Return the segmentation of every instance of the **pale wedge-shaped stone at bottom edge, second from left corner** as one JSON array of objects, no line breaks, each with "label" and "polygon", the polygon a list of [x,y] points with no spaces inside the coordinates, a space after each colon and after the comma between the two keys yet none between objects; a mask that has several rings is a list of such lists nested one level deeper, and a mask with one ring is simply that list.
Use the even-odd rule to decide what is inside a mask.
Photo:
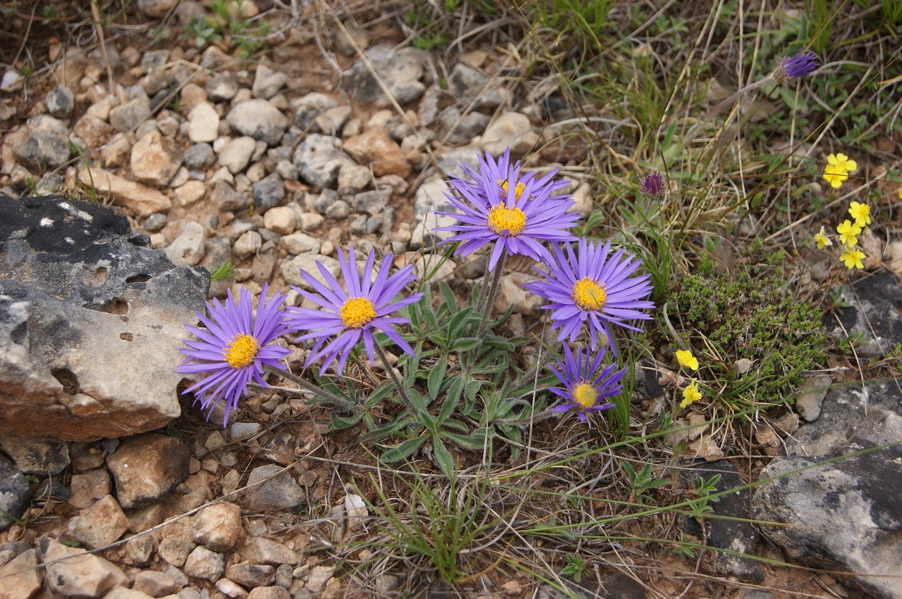
[{"label": "pale wedge-shaped stone at bottom edge, second from left corner", "polygon": [[41,540],[44,576],[54,594],[100,597],[115,586],[127,586],[128,576],[104,558],[84,549],[67,547],[55,539]]}]

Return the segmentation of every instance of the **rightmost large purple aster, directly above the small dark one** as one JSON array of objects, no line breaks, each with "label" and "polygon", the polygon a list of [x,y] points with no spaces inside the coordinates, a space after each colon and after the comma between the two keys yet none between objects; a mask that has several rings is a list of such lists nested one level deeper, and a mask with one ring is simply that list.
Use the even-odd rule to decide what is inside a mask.
[{"label": "rightmost large purple aster, directly above the small dark one", "polygon": [[576,340],[584,322],[589,325],[592,349],[599,333],[611,342],[610,323],[639,331],[626,321],[648,320],[651,317],[640,311],[655,307],[647,299],[651,293],[649,275],[630,277],[642,261],[634,255],[623,258],[623,250],[609,256],[610,241],[597,246],[582,238],[577,253],[572,244],[564,247],[566,254],[559,246],[554,247],[555,259],[548,263],[548,273],[542,273],[548,280],[524,285],[530,293],[551,302],[542,308],[553,311],[551,328],[561,330],[557,340]]}]

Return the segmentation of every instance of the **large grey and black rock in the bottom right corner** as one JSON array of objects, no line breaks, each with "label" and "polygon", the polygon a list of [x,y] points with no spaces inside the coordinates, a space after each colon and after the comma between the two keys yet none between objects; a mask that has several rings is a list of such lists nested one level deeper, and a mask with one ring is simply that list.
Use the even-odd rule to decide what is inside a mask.
[{"label": "large grey and black rock in the bottom right corner", "polygon": [[[836,455],[870,447],[854,440]],[[752,512],[761,531],[793,560],[854,573],[845,578],[849,584],[899,599],[902,499],[891,481],[900,476],[899,445],[822,464],[816,458],[775,458],[761,477],[776,479],[757,487]]]}]

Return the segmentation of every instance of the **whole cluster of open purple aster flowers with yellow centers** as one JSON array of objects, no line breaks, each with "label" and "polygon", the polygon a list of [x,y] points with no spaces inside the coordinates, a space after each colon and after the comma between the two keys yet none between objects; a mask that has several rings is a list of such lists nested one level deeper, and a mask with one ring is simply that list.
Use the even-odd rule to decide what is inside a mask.
[{"label": "whole cluster of open purple aster flowers with yellow centers", "polygon": [[[459,255],[492,243],[492,286],[498,285],[507,255],[537,260],[536,268],[544,280],[525,288],[548,299],[543,307],[549,311],[552,330],[559,331],[558,340],[575,343],[585,333],[588,344],[575,350],[565,345],[563,359],[557,360],[557,368],[551,368],[561,386],[549,391],[563,398],[553,411],[573,409],[584,421],[587,413],[611,408],[613,404],[607,400],[621,393],[620,381],[626,372],[605,359],[608,348],[617,356],[612,325],[638,330],[632,322],[649,319],[643,311],[654,307],[648,300],[649,275],[637,274],[640,260],[623,250],[612,250],[610,241],[601,244],[575,238],[569,231],[578,220],[578,214],[571,210],[575,202],[570,195],[559,193],[567,184],[554,180],[556,171],[536,177],[523,170],[520,162],[512,163],[509,153],[498,159],[486,156],[477,169],[464,168],[467,177],[452,177],[450,181],[448,199],[459,211],[454,213],[459,224],[444,228],[455,233],[445,242],[459,242]],[[649,187],[649,194],[661,193],[663,179],[653,187]],[[204,328],[188,326],[195,339],[186,340],[187,349],[181,349],[185,359],[177,370],[201,376],[185,393],[194,394],[209,411],[225,403],[227,419],[248,385],[267,386],[264,368],[270,368],[329,398],[326,392],[318,392],[318,387],[281,370],[280,361],[290,349],[277,340],[294,335],[295,342],[312,342],[304,366],[319,363],[320,377],[333,364],[336,372],[343,374],[351,351],[363,341],[370,362],[374,363],[376,356],[382,360],[402,403],[412,406],[410,389],[394,374],[374,333],[383,333],[401,351],[414,354],[397,330],[410,320],[396,314],[405,306],[419,303],[424,294],[405,294],[405,288],[416,279],[413,266],[391,274],[391,262],[388,254],[377,266],[371,250],[358,273],[354,248],[346,256],[338,250],[344,285],[322,264],[317,264],[318,276],[301,270],[308,288],[292,288],[308,305],[317,307],[283,307],[286,296],[280,293],[267,300],[265,286],[255,314],[246,289],[237,301],[230,292],[226,304],[218,300],[208,303],[208,314],[198,313]],[[490,288],[490,298],[493,293]],[[492,304],[491,300],[485,303],[481,328]],[[477,339],[483,338],[483,332]]]}]

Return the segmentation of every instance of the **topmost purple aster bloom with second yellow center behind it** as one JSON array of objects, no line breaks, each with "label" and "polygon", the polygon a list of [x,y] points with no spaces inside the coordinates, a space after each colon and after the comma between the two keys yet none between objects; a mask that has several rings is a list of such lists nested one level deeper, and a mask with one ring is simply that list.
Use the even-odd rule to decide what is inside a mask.
[{"label": "topmost purple aster bloom with second yellow center behind it", "polygon": [[552,181],[557,168],[545,177],[520,172],[520,162],[511,165],[511,150],[497,160],[485,155],[479,159],[479,170],[461,164],[472,181],[450,177],[452,192],[447,198],[461,213],[454,216],[462,224],[439,227],[437,231],[455,231],[456,235],[442,243],[464,241],[455,254],[466,256],[490,241],[495,242],[489,270],[508,254],[525,254],[535,260],[549,260],[545,241],[573,241],[566,231],[579,220],[579,214],[567,212],[575,202],[569,195],[552,195],[567,185]]}]

